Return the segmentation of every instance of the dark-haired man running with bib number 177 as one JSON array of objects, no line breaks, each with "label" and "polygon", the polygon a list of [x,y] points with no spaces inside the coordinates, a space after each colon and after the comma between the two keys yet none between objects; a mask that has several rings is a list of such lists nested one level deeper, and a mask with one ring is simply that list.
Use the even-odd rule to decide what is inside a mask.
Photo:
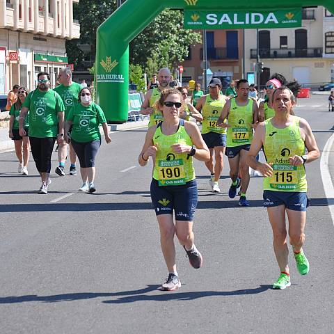
[{"label": "dark-haired man running with bib number 177", "polygon": [[[248,206],[246,191],[249,184],[249,168],[246,163],[250,143],[253,139],[253,126],[257,124],[257,103],[248,97],[249,84],[245,79],[237,82],[237,97],[226,102],[218,125],[226,127],[225,118],[228,118],[228,134],[225,154],[230,164],[232,184],[228,196],[234,198],[241,183],[239,205]],[[239,168],[242,178],[239,179]]]}]

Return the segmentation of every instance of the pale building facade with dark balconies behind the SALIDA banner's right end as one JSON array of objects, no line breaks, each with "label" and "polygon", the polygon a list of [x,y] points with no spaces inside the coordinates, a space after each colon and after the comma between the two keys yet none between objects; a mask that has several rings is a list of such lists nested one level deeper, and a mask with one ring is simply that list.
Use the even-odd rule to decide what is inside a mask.
[{"label": "pale building facade with dark balconies behind the SALIDA banner's right end", "polygon": [[[259,29],[260,84],[279,72],[305,86],[331,81],[334,64],[334,16],[322,6],[303,8],[301,28]],[[246,72],[255,70],[257,31],[245,30]]]}]

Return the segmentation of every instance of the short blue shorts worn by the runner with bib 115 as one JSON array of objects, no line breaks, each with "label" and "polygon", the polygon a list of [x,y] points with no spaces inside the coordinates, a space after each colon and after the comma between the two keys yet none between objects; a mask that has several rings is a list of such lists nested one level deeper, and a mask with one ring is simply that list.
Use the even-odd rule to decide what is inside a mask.
[{"label": "short blue shorts worn by the runner with bib 115", "polygon": [[310,200],[306,193],[297,191],[263,191],[263,206],[264,207],[278,207],[278,205],[285,205],[287,209],[294,211],[306,211],[310,206]]}]

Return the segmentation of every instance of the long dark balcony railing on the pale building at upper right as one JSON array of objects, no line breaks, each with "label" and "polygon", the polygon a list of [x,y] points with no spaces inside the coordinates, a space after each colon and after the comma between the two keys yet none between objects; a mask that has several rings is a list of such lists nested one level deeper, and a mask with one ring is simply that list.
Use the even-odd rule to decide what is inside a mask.
[{"label": "long dark balcony railing on the pale building at upper right", "polygon": [[[260,49],[260,58],[322,58],[322,47],[308,49]],[[257,49],[250,49],[250,58],[257,58]]]}]

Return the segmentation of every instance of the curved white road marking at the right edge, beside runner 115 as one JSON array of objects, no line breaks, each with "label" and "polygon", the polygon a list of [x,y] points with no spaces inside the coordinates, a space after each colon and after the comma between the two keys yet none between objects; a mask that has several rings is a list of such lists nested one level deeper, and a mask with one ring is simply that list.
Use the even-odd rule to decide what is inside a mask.
[{"label": "curved white road marking at the right edge, beside runner 115", "polygon": [[328,139],[320,159],[321,180],[324,185],[325,196],[328,202],[329,212],[331,212],[332,223],[334,225],[334,186],[329,173],[329,153],[334,142],[334,134]]}]

